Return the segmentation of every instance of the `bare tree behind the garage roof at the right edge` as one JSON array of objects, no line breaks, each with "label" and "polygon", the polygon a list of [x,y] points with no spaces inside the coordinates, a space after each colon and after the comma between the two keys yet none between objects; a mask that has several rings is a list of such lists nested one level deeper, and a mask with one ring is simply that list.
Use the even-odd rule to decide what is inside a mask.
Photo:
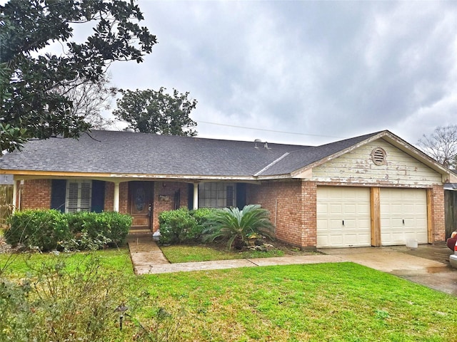
[{"label": "bare tree behind the garage roof at the right edge", "polygon": [[424,134],[418,145],[443,166],[457,167],[457,125],[438,126],[431,135]]}]

